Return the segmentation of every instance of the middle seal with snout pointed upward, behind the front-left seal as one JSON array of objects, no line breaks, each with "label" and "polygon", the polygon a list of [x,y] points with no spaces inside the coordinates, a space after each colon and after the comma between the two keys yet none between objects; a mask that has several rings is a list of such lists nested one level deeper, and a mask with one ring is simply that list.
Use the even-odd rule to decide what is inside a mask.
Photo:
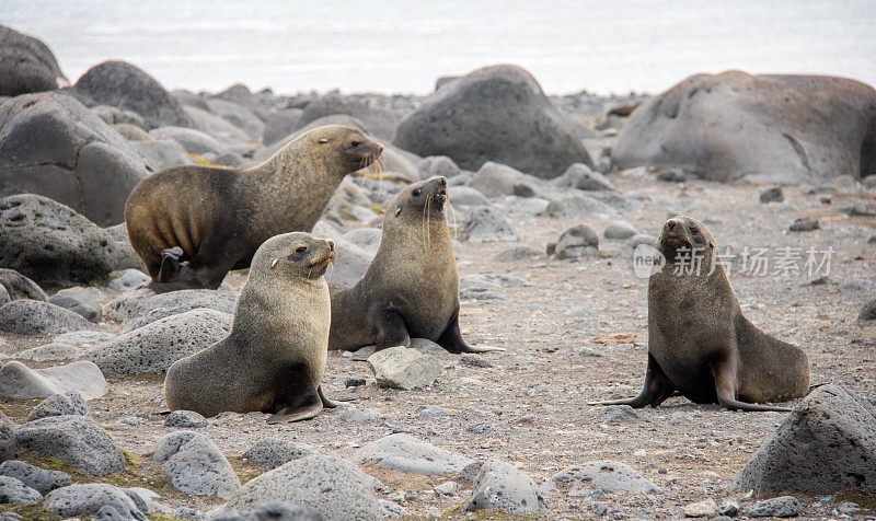
[{"label": "middle seal with snout pointed upward, behind the front-left seal", "polygon": [[387,205],[374,259],[353,288],[333,288],[328,349],[410,346],[411,337],[450,352],[472,347],[459,328],[459,274],[445,217],[447,180],[414,183]]}]

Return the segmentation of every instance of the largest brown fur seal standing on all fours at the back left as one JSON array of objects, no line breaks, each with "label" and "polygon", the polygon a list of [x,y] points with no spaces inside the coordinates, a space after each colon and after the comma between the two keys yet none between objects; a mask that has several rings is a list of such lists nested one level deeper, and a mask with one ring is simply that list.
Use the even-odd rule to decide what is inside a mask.
[{"label": "largest brown fur seal standing on all fours at the back left", "polygon": [[358,129],[328,125],[249,170],[185,165],[147,177],[128,196],[125,222],[150,287],[218,288],[268,238],[313,229],[344,176],[382,151]]}]

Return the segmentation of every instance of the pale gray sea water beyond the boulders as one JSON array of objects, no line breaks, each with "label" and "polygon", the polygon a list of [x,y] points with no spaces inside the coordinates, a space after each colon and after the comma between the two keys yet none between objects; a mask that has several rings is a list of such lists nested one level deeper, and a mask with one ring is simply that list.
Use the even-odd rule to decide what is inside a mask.
[{"label": "pale gray sea water beyond the boulders", "polygon": [[427,93],[484,65],[549,93],[662,91],[695,72],[876,84],[874,0],[0,0],[71,81],[110,58],[164,86]]}]

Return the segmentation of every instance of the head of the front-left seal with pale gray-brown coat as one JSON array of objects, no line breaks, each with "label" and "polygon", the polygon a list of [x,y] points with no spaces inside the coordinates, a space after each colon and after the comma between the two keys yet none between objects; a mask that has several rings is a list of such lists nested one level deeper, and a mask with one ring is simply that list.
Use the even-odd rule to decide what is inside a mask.
[{"label": "head of the front-left seal with pale gray-brown coat", "polygon": [[284,278],[318,279],[335,257],[335,245],[310,233],[292,232],[276,235],[255,252],[252,268]]}]

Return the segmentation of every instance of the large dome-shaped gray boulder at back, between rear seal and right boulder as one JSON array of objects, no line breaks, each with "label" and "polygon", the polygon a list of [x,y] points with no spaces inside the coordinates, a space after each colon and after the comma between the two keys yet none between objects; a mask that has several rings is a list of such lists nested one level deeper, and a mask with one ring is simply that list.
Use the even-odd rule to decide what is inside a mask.
[{"label": "large dome-shaped gray boulder at back, between rear seal and right boulder", "polygon": [[399,124],[392,142],[424,158],[448,155],[466,170],[495,161],[556,177],[573,163],[592,164],[580,134],[529,72],[503,65],[443,85]]}]

